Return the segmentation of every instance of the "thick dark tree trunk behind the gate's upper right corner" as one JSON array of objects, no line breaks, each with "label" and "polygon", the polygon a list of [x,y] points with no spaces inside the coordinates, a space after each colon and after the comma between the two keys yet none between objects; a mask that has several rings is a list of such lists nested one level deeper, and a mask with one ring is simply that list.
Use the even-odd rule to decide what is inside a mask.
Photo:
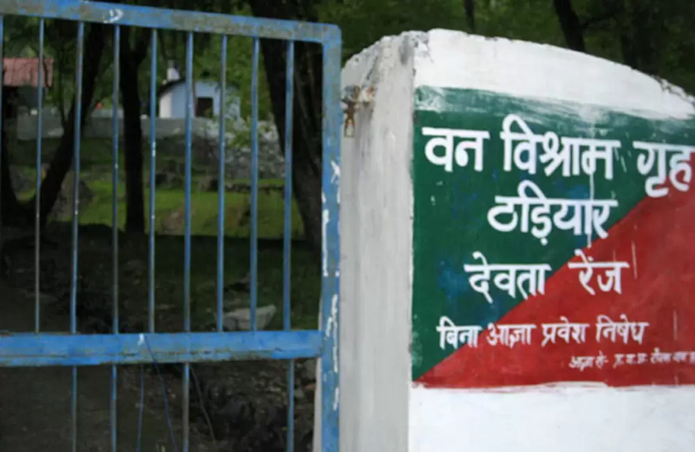
[{"label": "thick dark tree trunk behind the gate's upper right corner", "polygon": [[[256,17],[298,19],[317,22],[311,15],[312,0],[285,2],[250,0]],[[297,4],[301,3],[301,4]],[[286,47],[282,40],[262,40],[265,75],[270,87],[270,102],[284,147]],[[295,42],[295,92],[293,104],[293,175],[292,186],[304,223],[304,236],[311,248],[321,251],[321,170],[322,170],[322,53],[320,45]]]}]

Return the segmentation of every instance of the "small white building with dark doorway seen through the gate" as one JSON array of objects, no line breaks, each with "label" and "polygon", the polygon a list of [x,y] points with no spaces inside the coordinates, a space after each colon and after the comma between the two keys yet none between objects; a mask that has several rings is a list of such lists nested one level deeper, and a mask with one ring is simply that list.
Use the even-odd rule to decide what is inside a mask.
[{"label": "small white building with dark doorway seen through the gate", "polygon": [[[167,69],[167,81],[159,93],[159,118],[186,118],[186,80],[170,63]],[[195,99],[194,116],[197,118],[214,118],[220,115],[220,83],[211,79],[199,79],[193,87]],[[238,87],[227,84],[227,118],[238,118],[240,99]]]}]

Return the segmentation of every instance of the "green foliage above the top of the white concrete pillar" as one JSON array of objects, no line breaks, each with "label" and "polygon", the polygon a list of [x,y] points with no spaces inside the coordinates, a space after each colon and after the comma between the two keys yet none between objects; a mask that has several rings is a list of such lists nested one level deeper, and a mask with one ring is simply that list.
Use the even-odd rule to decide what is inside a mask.
[{"label": "green foliage above the top of the white concrete pillar", "polygon": [[[573,0],[589,54],[632,65],[695,92],[695,3],[685,0]],[[320,19],[343,29],[345,58],[384,35],[468,29],[462,0],[323,0]],[[550,0],[476,0],[475,33],[565,46]],[[628,58],[635,54],[635,61]]]}]

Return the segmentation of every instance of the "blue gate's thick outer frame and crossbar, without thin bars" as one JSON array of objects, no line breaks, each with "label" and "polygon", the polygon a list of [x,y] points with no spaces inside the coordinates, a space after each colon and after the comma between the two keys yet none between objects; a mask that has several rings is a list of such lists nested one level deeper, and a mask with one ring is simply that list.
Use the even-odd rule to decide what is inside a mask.
[{"label": "blue gate's thick outer frame and crossbar, without thin bars", "polygon": [[[154,30],[169,29],[249,38],[316,42],[322,45],[322,266],[319,330],[88,335],[17,333],[0,336],[0,367],[191,363],[253,358],[318,357],[321,363],[322,389],[321,449],[324,452],[337,452],[340,407],[338,225],[340,129],[343,118],[340,104],[341,29],[333,24],[79,0],[0,1],[0,17],[5,15],[63,19],[76,22],[76,24],[92,22],[138,26]],[[0,39],[2,39],[1,35]],[[79,143],[79,139],[77,142]],[[5,150],[0,150],[0,152],[3,151]],[[148,346],[145,347],[145,344]],[[316,430],[318,426],[314,428]]]}]

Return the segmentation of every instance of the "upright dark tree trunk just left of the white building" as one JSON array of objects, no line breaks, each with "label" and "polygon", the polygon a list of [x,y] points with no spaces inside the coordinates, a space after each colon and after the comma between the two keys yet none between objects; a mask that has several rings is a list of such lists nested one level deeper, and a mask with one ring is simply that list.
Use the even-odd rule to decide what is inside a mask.
[{"label": "upright dark tree trunk just left of the white building", "polygon": [[138,70],[147,55],[147,39],[132,43],[129,27],[121,29],[120,89],[123,102],[123,125],[126,163],[126,231],[145,232],[145,193],[142,187],[142,124]]}]

